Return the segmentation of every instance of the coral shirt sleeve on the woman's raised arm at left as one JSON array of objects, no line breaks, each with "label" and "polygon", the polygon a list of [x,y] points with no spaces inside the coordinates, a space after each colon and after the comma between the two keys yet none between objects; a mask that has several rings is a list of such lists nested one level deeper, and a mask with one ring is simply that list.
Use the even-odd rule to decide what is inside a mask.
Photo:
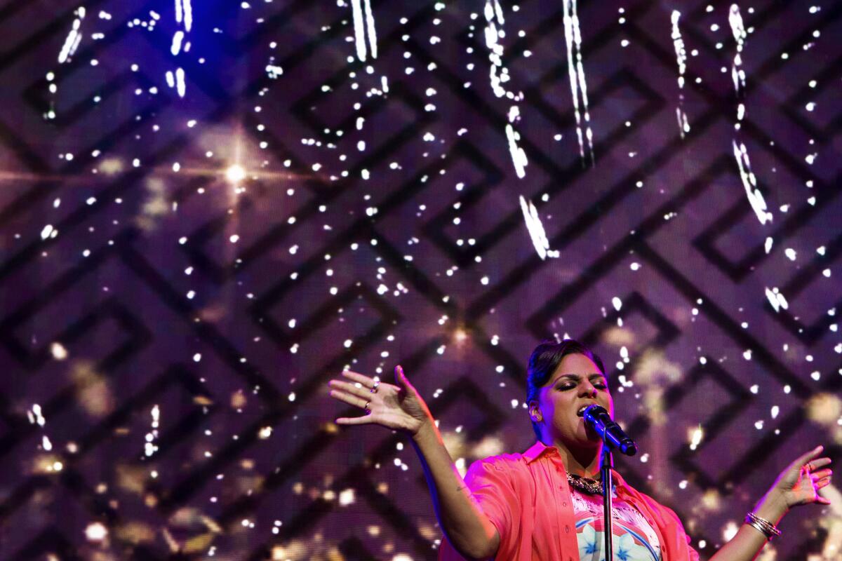
[{"label": "coral shirt sleeve on the woman's raised arm at left", "polygon": [[[474,499],[482,508],[500,534],[500,546],[495,559],[513,559],[516,557],[520,527],[520,500],[515,492],[511,470],[513,466],[489,458],[472,463],[465,474],[465,483]],[[442,537],[439,548],[440,561],[461,561],[463,558],[450,545],[447,537]]]}]

